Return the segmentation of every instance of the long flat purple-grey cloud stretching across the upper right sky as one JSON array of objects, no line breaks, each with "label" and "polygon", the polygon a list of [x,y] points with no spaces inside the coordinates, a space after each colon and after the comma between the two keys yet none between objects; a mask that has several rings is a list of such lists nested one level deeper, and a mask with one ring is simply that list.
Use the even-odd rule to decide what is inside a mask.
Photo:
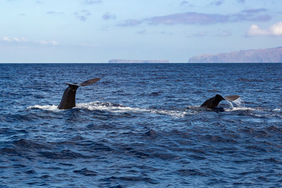
[{"label": "long flat purple-grey cloud stretching across the upper right sky", "polygon": [[269,14],[261,14],[267,9],[248,9],[236,14],[206,14],[197,12],[185,12],[178,14],[169,14],[165,16],[153,16],[143,20],[129,19],[118,26],[137,26],[144,22],[149,25],[208,25],[227,22],[240,22],[240,21],[269,21],[271,16]]}]

